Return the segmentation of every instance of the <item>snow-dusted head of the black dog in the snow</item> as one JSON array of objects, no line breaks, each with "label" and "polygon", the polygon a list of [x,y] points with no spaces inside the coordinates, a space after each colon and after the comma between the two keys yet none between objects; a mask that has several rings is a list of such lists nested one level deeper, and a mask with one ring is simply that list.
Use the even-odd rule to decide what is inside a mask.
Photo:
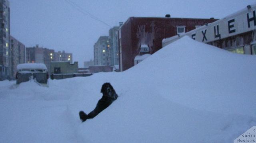
[{"label": "snow-dusted head of the black dog in the snow", "polygon": [[116,100],[118,98],[118,95],[116,94],[116,91],[112,87],[112,85],[108,82],[104,83],[101,88],[101,92],[103,96],[106,96],[108,98],[111,98],[113,100]]}]

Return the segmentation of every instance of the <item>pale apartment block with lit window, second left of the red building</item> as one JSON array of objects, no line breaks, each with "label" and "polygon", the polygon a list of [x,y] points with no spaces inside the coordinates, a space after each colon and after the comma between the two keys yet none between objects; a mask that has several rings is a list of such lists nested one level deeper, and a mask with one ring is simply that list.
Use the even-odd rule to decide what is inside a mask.
[{"label": "pale apartment block with lit window, second left of the red building", "polygon": [[94,44],[94,65],[108,65],[107,45],[108,36],[100,36],[98,41]]}]

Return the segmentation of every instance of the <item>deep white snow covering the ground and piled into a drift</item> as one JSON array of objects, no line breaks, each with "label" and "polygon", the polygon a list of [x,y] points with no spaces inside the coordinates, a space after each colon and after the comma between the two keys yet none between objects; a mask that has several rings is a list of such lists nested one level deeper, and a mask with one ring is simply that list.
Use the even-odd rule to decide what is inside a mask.
[{"label": "deep white snow covering the ground and piled into a drift", "polygon": [[[256,125],[256,56],[183,37],[124,72],[0,82],[1,143],[230,143]],[[101,85],[119,98],[94,119]]]}]

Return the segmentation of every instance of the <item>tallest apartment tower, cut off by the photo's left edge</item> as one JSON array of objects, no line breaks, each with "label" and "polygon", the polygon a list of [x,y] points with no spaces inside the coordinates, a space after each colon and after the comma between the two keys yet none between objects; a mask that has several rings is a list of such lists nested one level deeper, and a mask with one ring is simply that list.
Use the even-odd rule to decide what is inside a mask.
[{"label": "tallest apartment tower, cut off by the photo's left edge", "polygon": [[0,80],[10,79],[10,7],[8,0],[0,0]]}]

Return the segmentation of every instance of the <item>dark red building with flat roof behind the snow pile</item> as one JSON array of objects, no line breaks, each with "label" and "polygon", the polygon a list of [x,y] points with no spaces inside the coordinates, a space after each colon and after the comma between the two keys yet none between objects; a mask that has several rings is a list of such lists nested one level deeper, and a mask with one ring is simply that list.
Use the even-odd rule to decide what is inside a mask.
[{"label": "dark red building with flat roof behind the snow pile", "polygon": [[118,31],[120,71],[133,67],[136,56],[153,54],[161,49],[164,38],[215,21],[214,18],[129,18]]}]

